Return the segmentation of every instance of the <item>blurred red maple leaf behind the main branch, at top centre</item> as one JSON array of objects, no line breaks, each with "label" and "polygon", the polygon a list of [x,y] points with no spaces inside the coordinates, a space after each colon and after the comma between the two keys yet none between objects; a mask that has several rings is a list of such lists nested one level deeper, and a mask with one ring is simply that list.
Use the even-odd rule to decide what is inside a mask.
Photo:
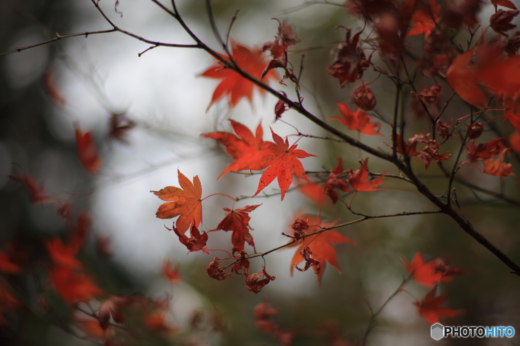
[{"label": "blurred red maple leaf behind the main branch, at top centre", "polygon": [[[240,69],[249,73],[251,76],[260,79],[262,72],[266,68],[268,62],[262,54],[262,50],[254,48],[253,50],[245,47],[237,42],[231,41],[231,57]],[[223,57],[225,60],[229,60]],[[229,106],[235,107],[241,98],[245,97],[250,103],[253,101],[253,88],[257,88],[262,95],[265,90],[258,88],[252,82],[242,77],[231,69],[225,69],[221,64],[216,63],[210,69],[204,71],[201,76],[223,79],[216,87],[211,98],[210,107],[216,101],[229,96]],[[263,82],[268,83],[269,79],[277,79],[278,75],[275,71],[267,72]]]}]

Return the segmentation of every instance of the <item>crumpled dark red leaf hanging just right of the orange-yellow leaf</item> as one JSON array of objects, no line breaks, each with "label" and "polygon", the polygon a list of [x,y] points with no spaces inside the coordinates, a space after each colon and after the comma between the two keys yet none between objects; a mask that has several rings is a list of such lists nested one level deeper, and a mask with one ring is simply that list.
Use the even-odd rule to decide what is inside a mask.
[{"label": "crumpled dark red leaf hanging just right of the orange-yellow leaf", "polygon": [[245,207],[241,207],[235,210],[231,210],[229,208],[224,208],[224,210],[228,213],[226,217],[220,221],[217,228],[213,231],[223,230],[223,231],[233,231],[231,235],[231,243],[233,243],[232,252],[240,252],[244,249],[245,242],[248,242],[256,252],[255,243],[253,242],[253,237],[250,230],[253,230],[249,225],[249,221],[251,217],[249,213],[256,208],[261,206],[261,204],[257,205],[246,205]]}]

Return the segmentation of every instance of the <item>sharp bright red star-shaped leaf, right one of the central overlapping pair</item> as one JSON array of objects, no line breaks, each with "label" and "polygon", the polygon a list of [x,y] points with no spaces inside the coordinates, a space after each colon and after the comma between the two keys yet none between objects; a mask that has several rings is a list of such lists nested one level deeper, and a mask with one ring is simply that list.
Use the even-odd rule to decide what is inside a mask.
[{"label": "sharp bright red star-shaped leaf, right one of the central overlapping pair", "polygon": [[285,191],[289,189],[293,179],[293,172],[298,178],[305,179],[310,183],[309,178],[305,175],[303,165],[298,158],[305,158],[314,156],[301,149],[296,149],[297,144],[293,144],[289,148],[289,140],[283,139],[275,134],[271,129],[272,138],[275,140],[275,145],[270,148],[272,157],[266,159],[265,164],[268,165],[267,169],[262,174],[260,181],[258,182],[258,190],[256,190],[253,196],[256,196],[260,191],[264,190],[275,178],[278,178],[278,186],[281,190],[281,198],[285,196]]}]

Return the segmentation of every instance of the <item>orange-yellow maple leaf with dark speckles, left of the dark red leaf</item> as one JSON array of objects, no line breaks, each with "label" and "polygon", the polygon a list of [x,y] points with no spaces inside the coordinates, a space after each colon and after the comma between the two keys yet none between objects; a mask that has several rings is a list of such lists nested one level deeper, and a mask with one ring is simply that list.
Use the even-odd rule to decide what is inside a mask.
[{"label": "orange-yellow maple leaf with dark speckles, left of the dark red leaf", "polygon": [[199,176],[193,177],[193,183],[177,169],[180,188],[167,186],[159,191],[153,192],[163,201],[157,209],[155,215],[160,219],[171,219],[179,216],[176,228],[184,233],[193,222],[195,227],[199,227],[202,222],[202,186]]}]

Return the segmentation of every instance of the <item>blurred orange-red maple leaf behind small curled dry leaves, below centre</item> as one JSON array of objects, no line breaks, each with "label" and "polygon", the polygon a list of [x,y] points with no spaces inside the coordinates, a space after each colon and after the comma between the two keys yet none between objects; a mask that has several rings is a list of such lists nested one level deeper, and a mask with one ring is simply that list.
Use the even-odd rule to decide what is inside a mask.
[{"label": "blurred orange-red maple leaf behind small curled dry leaves, below centre", "polygon": [[[321,222],[320,217],[314,215],[301,215],[298,216],[298,218],[305,220],[309,225],[308,229],[303,230],[305,234],[314,233],[319,231],[320,228],[331,227],[337,222],[337,220],[332,222]],[[294,232],[294,230],[291,232]],[[356,242],[354,242],[352,239],[343,236],[339,232],[329,230],[319,234],[305,236],[305,238],[301,239],[301,241],[297,241],[296,243],[289,245],[288,247],[298,246],[291,260],[291,275],[294,271],[295,265],[305,260],[302,253],[306,247],[309,247],[312,250],[313,259],[319,261],[321,264],[321,269],[316,274],[318,285],[321,282],[321,277],[323,276],[326,262],[329,262],[332,267],[336,268],[336,270],[341,273],[340,265],[337,263],[336,250],[332,246],[332,244],[338,243],[356,244]]]}]

